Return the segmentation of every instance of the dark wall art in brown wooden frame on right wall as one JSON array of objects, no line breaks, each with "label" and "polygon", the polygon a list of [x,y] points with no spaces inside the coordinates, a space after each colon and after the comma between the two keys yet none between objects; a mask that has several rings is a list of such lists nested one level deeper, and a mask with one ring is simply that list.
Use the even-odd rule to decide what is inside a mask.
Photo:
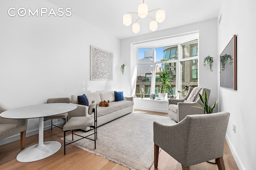
[{"label": "dark wall art in brown wooden frame on right wall", "polygon": [[236,35],[220,54],[220,86],[236,90]]}]

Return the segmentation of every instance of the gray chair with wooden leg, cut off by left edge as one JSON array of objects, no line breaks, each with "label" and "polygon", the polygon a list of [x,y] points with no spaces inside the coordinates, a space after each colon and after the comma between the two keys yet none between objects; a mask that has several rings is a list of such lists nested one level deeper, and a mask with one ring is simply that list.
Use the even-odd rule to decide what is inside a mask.
[{"label": "gray chair with wooden leg, cut off by left edge", "polygon": [[[4,111],[6,109],[0,105],[0,113]],[[6,119],[0,117],[0,140],[20,133],[20,149],[24,149],[27,125],[28,119]]]}]

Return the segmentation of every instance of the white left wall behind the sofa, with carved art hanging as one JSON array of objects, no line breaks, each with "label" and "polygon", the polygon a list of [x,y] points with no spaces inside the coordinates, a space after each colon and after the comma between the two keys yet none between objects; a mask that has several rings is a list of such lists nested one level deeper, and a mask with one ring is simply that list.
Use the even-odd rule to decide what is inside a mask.
[{"label": "white left wall behind the sofa, with carved art hanging", "polygon": [[[33,3],[32,3],[33,2]],[[96,91],[122,90],[120,40],[72,16],[11,17],[7,11],[59,6],[46,0],[0,0],[0,104],[7,109],[46,103],[48,98]],[[81,8],[82,10],[82,8]],[[114,53],[114,80],[90,81],[90,45]],[[129,93],[130,94],[130,93]],[[45,122],[45,126],[49,123]],[[38,129],[28,120],[27,133]],[[1,143],[0,143],[1,144]]]}]

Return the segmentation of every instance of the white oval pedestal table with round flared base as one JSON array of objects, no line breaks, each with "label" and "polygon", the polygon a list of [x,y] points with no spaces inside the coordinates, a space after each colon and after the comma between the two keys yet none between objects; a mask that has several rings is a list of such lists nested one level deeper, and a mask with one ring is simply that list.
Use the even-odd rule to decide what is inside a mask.
[{"label": "white oval pedestal table with round flared base", "polygon": [[22,150],[16,157],[19,162],[33,162],[41,160],[56,153],[61,144],[57,141],[44,142],[44,117],[58,115],[76,109],[75,104],[51,103],[18,107],[4,111],[1,117],[8,119],[30,119],[39,117],[38,144]]}]

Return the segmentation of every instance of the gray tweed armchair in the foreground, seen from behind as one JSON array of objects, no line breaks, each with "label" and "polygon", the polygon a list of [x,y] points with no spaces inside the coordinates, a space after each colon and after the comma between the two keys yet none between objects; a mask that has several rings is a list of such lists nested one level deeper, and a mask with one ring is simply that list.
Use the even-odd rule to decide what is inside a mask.
[{"label": "gray tweed armchair in the foreground, seen from behind", "polygon": [[158,166],[160,147],[182,164],[182,170],[212,159],[216,159],[219,170],[225,170],[223,155],[229,115],[187,115],[174,125],[154,122],[154,166]]}]

